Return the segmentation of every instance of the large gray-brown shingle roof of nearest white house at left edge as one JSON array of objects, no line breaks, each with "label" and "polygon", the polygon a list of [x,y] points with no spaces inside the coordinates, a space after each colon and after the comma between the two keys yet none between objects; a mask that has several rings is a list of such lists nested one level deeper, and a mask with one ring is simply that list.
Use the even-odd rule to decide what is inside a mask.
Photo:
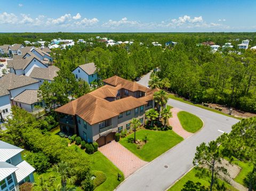
[{"label": "large gray-brown shingle roof of nearest white house at left edge", "polygon": [[28,76],[17,76],[7,73],[0,78],[0,96],[9,94],[9,90],[37,83],[38,80]]}]

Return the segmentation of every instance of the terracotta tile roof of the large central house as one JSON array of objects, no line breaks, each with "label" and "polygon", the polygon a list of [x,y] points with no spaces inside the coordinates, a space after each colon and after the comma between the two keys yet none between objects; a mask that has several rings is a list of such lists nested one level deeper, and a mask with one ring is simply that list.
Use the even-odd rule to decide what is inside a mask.
[{"label": "terracotta tile roof of the large central house", "polygon": [[[122,82],[128,81],[118,77],[118,80],[120,79]],[[129,83],[133,84],[131,81],[127,82],[127,84]],[[155,92],[155,90],[151,90],[141,85],[139,87],[133,85],[133,89],[147,90],[148,95],[141,98],[129,96],[112,102],[105,99],[107,97],[116,97],[119,89],[122,89],[121,85],[117,85],[116,87],[110,85],[102,86],[89,94],[85,94],[74,101],[59,107],[55,111],[70,115],[78,115],[86,122],[95,124],[116,117],[119,113],[134,109],[135,107],[146,105],[147,101],[153,99],[153,93]]]}]

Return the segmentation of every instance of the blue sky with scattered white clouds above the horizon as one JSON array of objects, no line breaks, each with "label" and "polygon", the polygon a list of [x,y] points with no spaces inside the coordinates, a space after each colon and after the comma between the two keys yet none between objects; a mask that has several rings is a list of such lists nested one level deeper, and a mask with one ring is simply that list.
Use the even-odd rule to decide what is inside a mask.
[{"label": "blue sky with scattered white clouds above the horizon", "polygon": [[0,32],[256,31],[256,0],[0,3]]}]

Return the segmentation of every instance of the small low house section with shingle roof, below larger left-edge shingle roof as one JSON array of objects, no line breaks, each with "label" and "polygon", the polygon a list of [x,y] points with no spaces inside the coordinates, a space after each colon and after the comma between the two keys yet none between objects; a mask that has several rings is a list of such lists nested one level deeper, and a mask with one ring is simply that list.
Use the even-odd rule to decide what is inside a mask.
[{"label": "small low house section with shingle roof, below larger left-edge shingle roof", "polygon": [[28,112],[37,111],[39,108],[44,108],[44,102],[38,99],[38,90],[27,89],[14,97],[12,103]]}]

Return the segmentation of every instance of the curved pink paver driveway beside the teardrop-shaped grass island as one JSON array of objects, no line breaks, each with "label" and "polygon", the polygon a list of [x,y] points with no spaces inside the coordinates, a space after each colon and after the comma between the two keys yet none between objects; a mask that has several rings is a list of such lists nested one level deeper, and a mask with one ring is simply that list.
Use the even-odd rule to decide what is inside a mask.
[{"label": "curved pink paver driveway beside the teardrop-shaped grass island", "polygon": [[182,128],[180,124],[180,120],[178,118],[177,113],[179,113],[180,109],[177,107],[173,107],[171,109],[172,112],[172,118],[169,119],[169,124],[172,126],[172,130],[176,132],[179,136],[183,137],[184,139],[188,138],[189,136],[193,135],[193,133],[186,131],[185,129]]}]

